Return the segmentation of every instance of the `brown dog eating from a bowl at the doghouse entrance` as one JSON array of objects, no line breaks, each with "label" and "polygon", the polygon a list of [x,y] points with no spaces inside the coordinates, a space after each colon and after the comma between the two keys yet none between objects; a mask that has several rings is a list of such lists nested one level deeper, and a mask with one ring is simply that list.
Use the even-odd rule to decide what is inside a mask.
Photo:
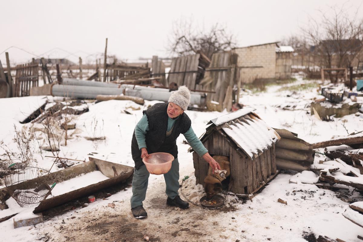
[{"label": "brown dog eating from a bowl at the doghouse entrance", "polygon": [[216,173],[213,174],[212,168],[208,167],[208,175],[204,178],[204,190],[205,193],[207,193],[206,200],[209,201],[212,199],[212,197],[222,192],[222,184],[221,181],[226,179],[229,175],[231,175],[231,168],[229,166],[229,157],[228,156],[222,156],[222,155],[215,155],[213,156],[213,159],[215,159],[218,164],[221,167],[221,170],[227,171],[225,175],[221,176],[220,174]]}]

